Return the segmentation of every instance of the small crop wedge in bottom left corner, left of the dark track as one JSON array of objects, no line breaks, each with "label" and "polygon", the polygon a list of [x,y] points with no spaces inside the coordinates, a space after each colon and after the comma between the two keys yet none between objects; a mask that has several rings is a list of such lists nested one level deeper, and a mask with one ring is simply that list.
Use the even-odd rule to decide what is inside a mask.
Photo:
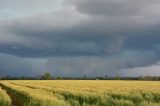
[{"label": "small crop wedge in bottom left corner, left of the dark track", "polygon": [[11,106],[9,95],[0,87],[0,106]]}]

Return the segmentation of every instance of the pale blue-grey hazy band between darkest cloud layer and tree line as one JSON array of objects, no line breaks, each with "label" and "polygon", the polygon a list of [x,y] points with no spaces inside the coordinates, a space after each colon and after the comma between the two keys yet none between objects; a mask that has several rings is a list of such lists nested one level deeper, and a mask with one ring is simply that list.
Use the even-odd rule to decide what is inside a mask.
[{"label": "pale blue-grey hazy band between darkest cloud layer and tree line", "polygon": [[129,50],[110,57],[70,56],[32,59],[0,54],[0,60],[1,75],[12,76],[36,76],[45,72],[50,72],[54,76],[125,76],[127,73],[121,71],[122,69],[148,67],[158,61],[152,51]]}]

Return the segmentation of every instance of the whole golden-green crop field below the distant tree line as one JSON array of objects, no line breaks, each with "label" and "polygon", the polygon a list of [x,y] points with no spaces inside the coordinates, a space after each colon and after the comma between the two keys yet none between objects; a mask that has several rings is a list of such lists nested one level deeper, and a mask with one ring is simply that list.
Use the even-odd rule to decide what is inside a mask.
[{"label": "whole golden-green crop field below the distant tree line", "polygon": [[160,82],[0,81],[0,106],[160,106]]}]

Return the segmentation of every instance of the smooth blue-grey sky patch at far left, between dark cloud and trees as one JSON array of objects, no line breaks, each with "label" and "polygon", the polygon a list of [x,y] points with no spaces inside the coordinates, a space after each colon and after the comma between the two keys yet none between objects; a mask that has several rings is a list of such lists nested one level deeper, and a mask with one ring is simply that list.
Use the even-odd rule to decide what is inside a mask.
[{"label": "smooth blue-grey sky patch at far left, between dark cloud and trees", "polygon": [[1,53],[0,60],[0,76],[36,76],[47,71],[45,59],[21,58]]}]

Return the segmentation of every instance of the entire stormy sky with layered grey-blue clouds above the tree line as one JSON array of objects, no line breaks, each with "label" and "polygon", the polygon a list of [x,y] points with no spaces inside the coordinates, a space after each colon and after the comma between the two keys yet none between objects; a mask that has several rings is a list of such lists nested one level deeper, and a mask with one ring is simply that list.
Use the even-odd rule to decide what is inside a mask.
[{"label": "entire stormy sky with layered grey-blue clouds above the tree line", "polygon": [[0,76],[160,75],[159,0],[0,0]]}]

